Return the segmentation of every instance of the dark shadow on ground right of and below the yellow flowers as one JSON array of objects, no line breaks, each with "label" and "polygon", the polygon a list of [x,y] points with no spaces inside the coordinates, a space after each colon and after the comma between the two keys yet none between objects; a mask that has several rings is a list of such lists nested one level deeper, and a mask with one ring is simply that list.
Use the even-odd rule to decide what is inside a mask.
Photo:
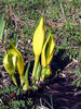
[{"label": "dark shadow on ground right of and below the yellow flowers", "polygon": [[[64,57],[65,50],[59,50],[51,62],[53,74],[45,80],[42,88],[32,94],[33,101],[49,107],[49,109],[81,109],[81,87],[77,88],[69,80],[71,76],[60,77],[56,73],[64,71],[70,62],[69,57]],[[67,72],[68,73],[68,72]],[[51,101],[52,100],[52,101]],[[53,108],[52,108],[53,104]]]}]

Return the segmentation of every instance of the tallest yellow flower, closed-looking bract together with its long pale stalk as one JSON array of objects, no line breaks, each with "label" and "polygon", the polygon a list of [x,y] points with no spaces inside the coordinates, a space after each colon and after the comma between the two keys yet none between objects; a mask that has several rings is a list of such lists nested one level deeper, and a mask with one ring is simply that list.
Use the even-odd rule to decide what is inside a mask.
[{"label": "tallest yellow flower, closed-looking bract together with its long pale stalk", "polygon": [[43,23],[43,17],[41,17],[40,23],[35,31],[33,40],[32,40],[33,53],[35,53],[35,65],[33,65],[33,71],[32,71],[32,78],[35,78],[37,65],[39,62],[39,57],[42,51],[42,47],[43,47],[43,43],[44,43],[44,35],[45,35],[45,26]]}]

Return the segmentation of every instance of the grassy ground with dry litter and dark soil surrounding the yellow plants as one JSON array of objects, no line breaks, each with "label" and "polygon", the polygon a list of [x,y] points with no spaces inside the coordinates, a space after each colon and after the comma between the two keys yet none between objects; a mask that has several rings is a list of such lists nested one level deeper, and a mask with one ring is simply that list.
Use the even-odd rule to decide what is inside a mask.
[{"label": "grassy ground with dry litter and dark soil surrounding the yellow plants", "polygon": [[[0,40],[1,109],[81,109],[78,57],[81,46],[80,5],[80,0],[0,1],[0,15],[6,22],[4,36]],[[44,17],[46,29],[52,32],[55,39],[52,74],[38,90],[23,92],[13,84],[3,68],[4,49],[12,38],[24,56],[25,69],[28,61],[31,61],[32,69],[32,36],[40,16]],[[78,84],[72,84],[76,80]]]}]

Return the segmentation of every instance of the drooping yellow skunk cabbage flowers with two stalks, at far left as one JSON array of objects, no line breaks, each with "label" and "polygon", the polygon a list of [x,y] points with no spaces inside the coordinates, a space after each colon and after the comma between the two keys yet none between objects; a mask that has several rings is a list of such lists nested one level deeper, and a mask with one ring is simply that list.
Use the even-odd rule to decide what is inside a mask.
[{"label": "drooping yellow skunk cabbage flowers with two stalks, at far left", "polygon": [[3,65],[10,76],[12,77],[13,82],[16,85],[16,81],[14,77],[15,70],[17,70],[21,78],[21,84],[24,84],[24,58],[18,49],[15,48],[12,41],[10,41],[9,49],[5,51],[3,58]]}]

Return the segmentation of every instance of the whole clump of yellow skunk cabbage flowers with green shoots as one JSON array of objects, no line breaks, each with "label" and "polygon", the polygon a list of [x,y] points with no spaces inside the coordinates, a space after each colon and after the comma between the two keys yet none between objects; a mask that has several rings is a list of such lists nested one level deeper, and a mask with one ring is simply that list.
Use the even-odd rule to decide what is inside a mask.
[{"label": "whole clump of yellow skunk cabbage flowers with green shoots", "polygon": [[[4,28],[4,24],[1,26]],[[1,32],[3,33],[3,31]],[[15,78],[16,71],[19,75],[21,86],[23,90],[37,89],[37,84],[43,82],[45,77],[52,74],[50,63],[54,55],[55,43],[51,32],[46,36],[46,27],[44,25],[43,17],[41,17],[38,27],[35,31],[32,39],[32,49],[35,53],[35,64],[31,73],[31,84],[29,84],[29,68],[30,63],[27,65],[25,72],[24,58],[21,51],[14,46],[13,41],[10,39],[9,48],[5,50],[3,58],[3,66],[11,76],[13,83],[17,86]]]}]

